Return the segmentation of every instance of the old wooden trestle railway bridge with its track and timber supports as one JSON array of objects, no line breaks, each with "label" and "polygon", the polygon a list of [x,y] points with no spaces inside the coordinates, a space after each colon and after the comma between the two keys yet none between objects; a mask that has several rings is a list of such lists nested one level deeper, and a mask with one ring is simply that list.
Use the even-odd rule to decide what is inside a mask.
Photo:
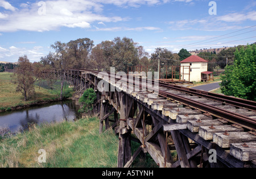
[{"label": "old wooden trestle railway bridge with its track and timber supports", "polygon": [[[256,102],[154,80],[142,90],[149,80],[127,79],[133,80],[130,86],[106,72],[105,76],[96,70],[65,73],[65,81],[77,93],[96,91],[100,132],[105,123],[119,135],[117,167],[130,167],[141,152],[163,168],[256,166]],[[111,114],[114,120],[109,119]],[[134,153],[131,140],[140,143]]]}]

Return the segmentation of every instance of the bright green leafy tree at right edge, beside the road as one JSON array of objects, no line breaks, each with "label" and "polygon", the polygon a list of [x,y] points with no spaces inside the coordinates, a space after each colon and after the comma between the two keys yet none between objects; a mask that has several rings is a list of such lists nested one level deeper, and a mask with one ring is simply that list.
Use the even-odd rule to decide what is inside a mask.
[{"label": "bright green leafy tree at right edge, beside the road", "polygon": [[243,99],[256,101],[256,45],[247,45],[234,53],[234,64],[225,68],[221,91]]}]

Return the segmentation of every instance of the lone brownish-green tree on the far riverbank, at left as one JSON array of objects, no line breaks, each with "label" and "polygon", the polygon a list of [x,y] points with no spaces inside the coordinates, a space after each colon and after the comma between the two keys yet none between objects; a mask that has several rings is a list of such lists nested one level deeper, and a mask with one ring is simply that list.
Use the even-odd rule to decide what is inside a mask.
[{"label": "lone brownish-green tree on the far riverbank, at left", "polygon": [[22,92],[24,95],[24,101],[27,101],[28,96],[35,94],[34,83],[38,78],[34,77],[34,70],[28,60],[27,56],[19,57],[18,67],[14,71],[13,80],[16,86],[17,92]]}]

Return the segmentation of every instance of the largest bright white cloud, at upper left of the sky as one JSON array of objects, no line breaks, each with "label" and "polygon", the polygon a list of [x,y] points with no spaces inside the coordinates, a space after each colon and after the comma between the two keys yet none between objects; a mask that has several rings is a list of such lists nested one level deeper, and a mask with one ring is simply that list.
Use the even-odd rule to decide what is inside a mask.
[{"label": "largest bright white cloud, at upper left of the sky", "polygon": [[[1,0],[0,0],[1,1]],[[119,16],[97,14],[102,5],[91,1],[45,1],[46,14],[40,15],[38,3],[22,4],[22,9],[8,14],[8,19],[1,20],[5,15],[0,14],[0,32],[13,31],[51,31],[60,27],[90,28],[93,22],[119,22],[126,20]],[[96,13],[94,13],[96,12]]]}]

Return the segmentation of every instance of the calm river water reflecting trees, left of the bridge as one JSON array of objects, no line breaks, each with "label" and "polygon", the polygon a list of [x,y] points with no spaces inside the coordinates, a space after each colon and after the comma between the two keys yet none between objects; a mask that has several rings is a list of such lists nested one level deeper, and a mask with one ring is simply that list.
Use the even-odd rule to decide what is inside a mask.
[{"label": "calm river water reflecting trees, left of the bridge", "polygon": [[9,128],[18,132],[28,127],[28,124],[61,122],[79,118],[79,106],[75,101],[60,101],[39,107],[0,113],[0,128]]}]

